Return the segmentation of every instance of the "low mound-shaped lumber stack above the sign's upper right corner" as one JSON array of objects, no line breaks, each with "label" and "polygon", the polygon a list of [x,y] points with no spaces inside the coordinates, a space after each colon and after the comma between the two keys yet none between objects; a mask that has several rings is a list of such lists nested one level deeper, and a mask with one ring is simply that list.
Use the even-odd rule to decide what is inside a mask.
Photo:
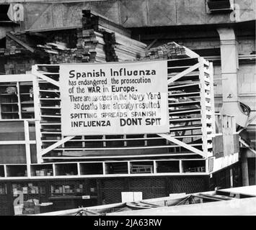
[{"label": "low mound-shaped lumber stack above the sign's upper right corner", "polygon": [[175,42],[168,42],[159,47],[151,48],[146,55],[146,59],[179,59],[187,57],[199,57],[199,55],[187,47],[178,45]]}]

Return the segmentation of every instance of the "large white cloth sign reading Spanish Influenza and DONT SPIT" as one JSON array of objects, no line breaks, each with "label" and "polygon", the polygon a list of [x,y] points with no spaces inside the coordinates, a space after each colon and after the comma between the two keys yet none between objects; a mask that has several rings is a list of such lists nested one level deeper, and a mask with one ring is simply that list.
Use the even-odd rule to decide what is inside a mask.
[{"label": "large white cloth sign reading Spanish Influenza and DONT SPIT", "polygon": [[167,61],[63,64],[65,136],[169,132]]}]

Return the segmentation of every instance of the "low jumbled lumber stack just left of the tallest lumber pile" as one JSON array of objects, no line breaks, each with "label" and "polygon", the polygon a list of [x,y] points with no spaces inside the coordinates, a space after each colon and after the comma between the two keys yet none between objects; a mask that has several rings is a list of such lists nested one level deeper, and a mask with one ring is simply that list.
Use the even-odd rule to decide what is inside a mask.
[{"label": "low jumbled lumber stack just left of the tallest lumber pile", "polygon": [[70,49],[64,42],[47,42],[45,45],[37,45],[38,48],[49,54],[50,63],[74,63],[77,49]]}]

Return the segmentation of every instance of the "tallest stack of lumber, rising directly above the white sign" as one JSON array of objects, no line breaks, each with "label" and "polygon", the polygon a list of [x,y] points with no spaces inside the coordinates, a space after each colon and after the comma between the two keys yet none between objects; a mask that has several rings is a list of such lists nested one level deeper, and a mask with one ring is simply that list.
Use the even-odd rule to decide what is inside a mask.
[{"label": "tallest stack of lumber, rising directly above the white sign", "polygon": [[124,61],[144,57],[146,44],[131,39],[128,29],[104,17],[83,10],[82,30],[78,33],[78,50],[84,61]]}]

